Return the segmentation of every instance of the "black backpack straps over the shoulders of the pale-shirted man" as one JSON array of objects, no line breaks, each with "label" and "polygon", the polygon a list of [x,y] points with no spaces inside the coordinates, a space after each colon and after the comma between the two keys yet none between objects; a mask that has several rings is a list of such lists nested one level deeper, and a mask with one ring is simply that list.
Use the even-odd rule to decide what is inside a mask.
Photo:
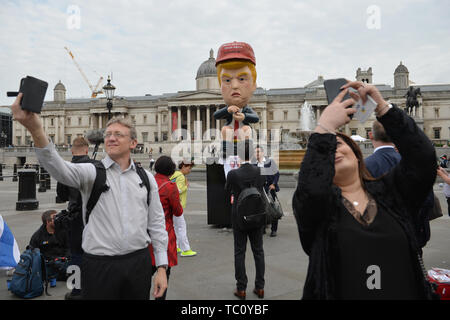
[{"label": "black backpack straps over the shoulders of the pale-shirted man", "polygon": [[[89,221],[89,215],[97,204],[98,199],[100,199],[102,193],[109,190],[109,186],[106,184],[106,168],[103,165],[103,162],[100,160],[91,160],[89,163],[92,163],[95,166],[97,175],[95,177],[91,195],[89,196],[89,200],[86,204],[86,224]],[[136,166],[136,172],[142,180],[141,187],[145,186],[147,188],[147,205],[150,205],[150,180],[148,179],[147,173],[142,165],[139,162],[135,162],[134,164]]]}]

